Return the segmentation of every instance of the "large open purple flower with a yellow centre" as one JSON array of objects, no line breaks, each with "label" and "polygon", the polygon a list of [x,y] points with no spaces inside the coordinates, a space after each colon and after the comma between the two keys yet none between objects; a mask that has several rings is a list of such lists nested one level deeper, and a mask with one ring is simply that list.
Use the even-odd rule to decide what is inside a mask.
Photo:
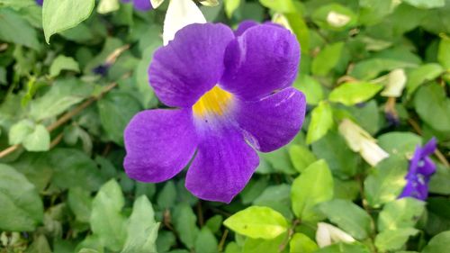
[{"label": "large open purple flower with a yellow centre", "polygon": [[154,54],[149,81],[174,109],[138,113],[125,129],[126,173],[161,182],[191,161],[185,186],[229,203],[259,164],[257,150],[279,149],[297,134],[304,95],[292,87],[300,61],[295,36],[255,24],[194,23]]}]

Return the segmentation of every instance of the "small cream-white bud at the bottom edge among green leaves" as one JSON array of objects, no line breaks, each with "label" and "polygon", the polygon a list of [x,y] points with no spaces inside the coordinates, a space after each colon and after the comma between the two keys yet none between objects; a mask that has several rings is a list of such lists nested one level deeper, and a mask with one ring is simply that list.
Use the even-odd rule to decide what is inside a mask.
[{"label": "small cream-white bud at the bottom edge among green leaves", "polygon": [[319,222],[316,232],[316,241],[320,248],[324,248],[339,241],[352,243],[355,242],[355,239],[345,231],[340,230],[329,223]]}]

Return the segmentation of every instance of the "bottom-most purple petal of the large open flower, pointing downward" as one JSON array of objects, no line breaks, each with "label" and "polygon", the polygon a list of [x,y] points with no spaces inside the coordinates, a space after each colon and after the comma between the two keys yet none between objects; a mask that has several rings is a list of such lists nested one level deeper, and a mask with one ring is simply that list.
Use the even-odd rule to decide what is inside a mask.
[{"label": "bottom-most purple petal of the large open flower, pointing downward", "polygon": [[197,197],[229,203],[259,164],[257,152],[234,129],[203,129],[186,188]]}]

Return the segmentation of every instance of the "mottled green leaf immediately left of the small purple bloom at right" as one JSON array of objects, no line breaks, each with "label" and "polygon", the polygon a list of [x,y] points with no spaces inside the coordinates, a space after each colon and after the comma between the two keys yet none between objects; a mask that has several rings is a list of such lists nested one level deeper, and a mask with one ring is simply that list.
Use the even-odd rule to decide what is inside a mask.
[{"label": "mottled green leaf immediately left of the small purple bloom at right", "polygon": [[406,184],[408,161],[402,156],[383,159],[365,178],[367,202],[377,208],[383,203],[396,200]]}]

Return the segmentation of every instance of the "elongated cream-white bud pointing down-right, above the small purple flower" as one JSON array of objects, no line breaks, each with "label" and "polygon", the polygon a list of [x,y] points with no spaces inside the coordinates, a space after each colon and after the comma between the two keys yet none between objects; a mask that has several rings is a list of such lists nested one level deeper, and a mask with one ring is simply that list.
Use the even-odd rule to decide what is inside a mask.
[{"label": "elongated cream-white bud pointing down-right, above the small purple flower", "polygon": [[359,152],[371,166],[389,157],[368,132],[350,120],[345,119],[339,124],[339,133],[344,136],[350,149]]}]

